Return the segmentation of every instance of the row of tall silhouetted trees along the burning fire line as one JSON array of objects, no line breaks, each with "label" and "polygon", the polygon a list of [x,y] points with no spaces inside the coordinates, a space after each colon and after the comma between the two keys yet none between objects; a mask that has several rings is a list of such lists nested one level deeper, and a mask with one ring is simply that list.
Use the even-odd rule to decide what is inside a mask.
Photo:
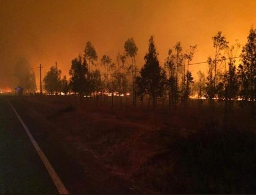
[{"label": "row of tall silhouetted trees along the burning fire line", "polygon": [[[78,56],[71,62],[69,80],[64,76],[61,79],[61,71],[55,66],[44,77],[44,86],[49,94],[65,94],[73,92],[83,96],[99,95],[122,96],[129,94],[132,97],[133,106],[136,100],[141,101],[148,97],[149,103],[156,108],[158,99],[164,102],[168,100],[169,108],[176,108],[177,104],[188,106],[192,93],[199,99],[203,97],[209,100],[214,109],[215,99],[225,100],[225,110],[229,110],[234,100],[242,100],[255,112],[256,99],[256,30],[250,29],[247,43],[242,48],[242,53],[237,54],[241,45],[230,45],[222,32],[212,37],[214,54],[208,57],[207,76],[203,72],[197,72],[196,81],[189,71],[189,64],[197,45],[192,45],[184,50],[180,42],[169,49],[163,67],[158,61],[158,53],[154,43],[154,37],[149,39],[149,49],[141,70],[138,70],[136,56],[137,45],[133,38],[129,38],[124,44],[123,53],[118,52],[114,61],[104,54],[100,60],[96,49],[90,41],[87,42],[83,56]],[[241,63],[236,68],[236,59],[241,58]],[[103,68],[103,73],[99,70]],[[138,74],[139,73],[139,74]]]}]

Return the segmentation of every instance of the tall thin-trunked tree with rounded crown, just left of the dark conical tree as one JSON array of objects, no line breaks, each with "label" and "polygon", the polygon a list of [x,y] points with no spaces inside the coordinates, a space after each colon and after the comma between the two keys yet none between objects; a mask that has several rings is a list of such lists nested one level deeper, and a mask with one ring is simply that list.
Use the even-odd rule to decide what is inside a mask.
[{"label": "tall thin-trunked tree with rounded crown, just left of the dark conical tree", "polygon": [[135,91],[135,78],[136,78],[136,72],[137,72],[137,67],[135,63],[135,56],[137,55],[138,48],[133,40],[133,38],[128,38],[128,40],[125,42],[125,53],[126,56],[130,57],[131,59],[131,64],[130,64],[130,69],[131,69],[131,75],[132,75],[132,84],[133,84],[133,106],[136,106],[136,91]]}]

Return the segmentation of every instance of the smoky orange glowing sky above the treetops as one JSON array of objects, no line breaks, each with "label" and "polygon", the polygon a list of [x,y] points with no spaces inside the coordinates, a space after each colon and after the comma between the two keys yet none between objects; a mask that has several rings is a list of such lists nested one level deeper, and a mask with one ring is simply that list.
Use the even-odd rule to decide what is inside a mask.
[{"label": "smoky orange glowing sky above the treetops", "polygon": [[[168,49],[181,41],[184,49],[197,44],[193,63],[212,54],[212,40],[219,30],[227,40],[243,45],[256,22],[256,1],[11,1],[0,0],[0,87],[13,85],[13,67],[21,57],[43,75],[58,62],[68,75],[71,60],[83,54],[91,41],[99,57],[112,59],[133,37],[137,63],[143,65],[150,35],[154,35],[160,63]],[[195,76],[207,64],[193,65]]]}]

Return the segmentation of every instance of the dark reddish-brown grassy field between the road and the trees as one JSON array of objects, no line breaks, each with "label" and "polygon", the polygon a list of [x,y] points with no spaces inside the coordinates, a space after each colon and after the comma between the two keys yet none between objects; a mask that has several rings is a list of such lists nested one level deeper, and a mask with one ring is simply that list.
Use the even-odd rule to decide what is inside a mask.
[{"label": "dark reddish-brown grassy field between the road and the trees", "polygon": [[207,100],[172,110],[167,102],[134,108],[133,97],[123,107],[73,95],[10,100],[26,123],[44,131],[44,143],[61,145],[84,169],[90,160],[83,153],[90,151],[139,192],[255,192],[256,122],[239,101],[224,112],[224,100],[214,111]]}]

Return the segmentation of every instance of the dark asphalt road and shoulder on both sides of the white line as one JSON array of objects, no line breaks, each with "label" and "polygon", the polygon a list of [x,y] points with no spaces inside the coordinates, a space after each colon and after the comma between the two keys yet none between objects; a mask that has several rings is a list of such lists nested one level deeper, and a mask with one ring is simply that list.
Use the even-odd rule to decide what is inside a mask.
[{"label": "dark asphalt road and shoulder on both sides of the white line", "polygon": [[52,139],[46,134],[45,128],[52,132],[55,129],[42,124],[40,119],[29,114],[26,107],[28,105],[25,106],[22,99],[0,96],[0,194],[58,193],[52,178],[6,98],[28,126],[69,193],[141,193],[135,190],[130,182],[109,174],[88,151],[83,151],[80,159],[72,153],[67,154],[64,151],[67,143],[61,139]]}]

